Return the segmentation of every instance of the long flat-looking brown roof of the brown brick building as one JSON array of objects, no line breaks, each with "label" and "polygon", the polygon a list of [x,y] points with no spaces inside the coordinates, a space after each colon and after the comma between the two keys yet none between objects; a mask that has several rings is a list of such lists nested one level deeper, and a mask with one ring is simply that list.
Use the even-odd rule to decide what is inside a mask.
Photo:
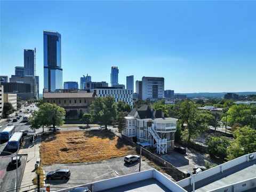
[{"label": "long flat-looking brown roof of the brown brick building", "polygon": [[97,97],[95,93],[61,93],[61,92],[49,92],[43,93],[43,98],[94,98]]}]

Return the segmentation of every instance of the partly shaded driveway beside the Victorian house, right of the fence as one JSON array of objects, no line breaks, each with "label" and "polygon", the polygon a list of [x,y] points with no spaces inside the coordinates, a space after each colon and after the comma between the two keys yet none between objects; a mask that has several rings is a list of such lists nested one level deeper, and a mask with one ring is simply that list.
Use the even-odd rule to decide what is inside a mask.
[{"label": "partly shaded driveway beside the Victorian house, right of the fence", "polygon": [[182,172],[186,170],[193,171],[194,166],[205,166],[206,161],[221,164],[221,162],[212,159],[208,154],[202,154],[190,149],[187,149],[187,154],[180,154],[171,150],[170,154],[160,156]]}]

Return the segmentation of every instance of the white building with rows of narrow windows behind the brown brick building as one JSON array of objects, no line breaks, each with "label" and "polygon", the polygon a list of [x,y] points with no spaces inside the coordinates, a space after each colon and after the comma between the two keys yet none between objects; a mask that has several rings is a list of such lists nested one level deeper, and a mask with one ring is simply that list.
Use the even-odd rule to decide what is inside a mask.
[{"label": "white building with rows of narrow windows behind the brown brick building", "polygon": [[[93,91],[93,90],[92,90]],[[132,107],[133,97],[132,97],[132,90],[127,89],[117,89],[114,87],[105,87],[102,89],[94,89],[98,97],[107,97],[111,95],[115,98],[115,101],[124,101],[125,103],[129,104]]]}]

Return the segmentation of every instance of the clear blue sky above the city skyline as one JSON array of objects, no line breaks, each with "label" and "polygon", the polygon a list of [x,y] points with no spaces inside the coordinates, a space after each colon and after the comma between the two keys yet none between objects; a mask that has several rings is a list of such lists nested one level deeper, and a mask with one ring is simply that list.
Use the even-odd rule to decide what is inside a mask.
[{"label": "clear blue sky above the city skyline", "polygon": [[165,78],[177,93],[256,91],[255,1],[1,1],[0,74],[36,47],[43,89],[43,30],[61,34],[63,82],[87,73],[110,83]]}]

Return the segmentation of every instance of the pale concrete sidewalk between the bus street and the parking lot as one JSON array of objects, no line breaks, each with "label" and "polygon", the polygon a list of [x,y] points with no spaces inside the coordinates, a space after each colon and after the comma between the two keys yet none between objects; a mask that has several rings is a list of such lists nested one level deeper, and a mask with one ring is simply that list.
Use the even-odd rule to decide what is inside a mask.
[{"label": "pale concrete sidewalk between the bus street and the parking lot", "polygon": [[[25,170],[21,180],[20,191],[26,191],[36,188],[36,185],[33,184],[33,179],[36,177],[35,163],[39,158],[39,146],[41,145],[41,134],[37,133],[37,139],[35,140],[35,146],[30,146],[26,149],[20,149],[19,154],[28,155],[27,163],[25,165]],[[29,187],[26,187],[29,186]]]}]

